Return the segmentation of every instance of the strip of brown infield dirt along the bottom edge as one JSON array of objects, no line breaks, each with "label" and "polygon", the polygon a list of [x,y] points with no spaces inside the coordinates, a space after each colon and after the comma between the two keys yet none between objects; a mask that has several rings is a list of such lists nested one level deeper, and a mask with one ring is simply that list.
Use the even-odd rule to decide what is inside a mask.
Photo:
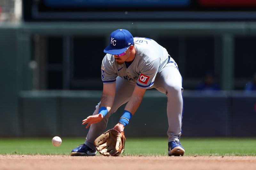
[{"label": "strip of brown infield dirt along the bottom edge", "polygon": [[0,155],[0,169],[255,169],[256,157]]}]

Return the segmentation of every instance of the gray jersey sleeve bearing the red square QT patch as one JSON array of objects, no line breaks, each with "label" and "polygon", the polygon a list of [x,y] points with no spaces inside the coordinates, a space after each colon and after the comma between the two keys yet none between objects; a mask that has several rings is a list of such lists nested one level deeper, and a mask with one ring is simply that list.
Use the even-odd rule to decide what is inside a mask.
[{"label": "gray jersey sleeve bearing the red square QT patch", "polygon": [[[152,85],[154,85],[154,81],[156,78],[156,74],[158,72],[158,68],[160,65],[160,58],[150,62],[150,63],[145,63],[143,67],[141,68],[141,74],[137,80],[136,85],[141,87],[141,88],[150,88]],[[147,78],[145,82],[143,82],[143,78],[141,75],[145,75],[144,77]]]}]

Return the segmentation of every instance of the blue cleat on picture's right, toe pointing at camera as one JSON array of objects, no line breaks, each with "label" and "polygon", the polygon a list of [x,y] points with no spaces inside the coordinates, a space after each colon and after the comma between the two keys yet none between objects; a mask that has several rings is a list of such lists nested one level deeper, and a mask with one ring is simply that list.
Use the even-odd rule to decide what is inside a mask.
[{"label": "blue cleat on picture's right, toe pointing at camera", "polygon": [[169,156],[183,156],[185,149],[181,146],[179,141],[168,142],[168,155]]}]

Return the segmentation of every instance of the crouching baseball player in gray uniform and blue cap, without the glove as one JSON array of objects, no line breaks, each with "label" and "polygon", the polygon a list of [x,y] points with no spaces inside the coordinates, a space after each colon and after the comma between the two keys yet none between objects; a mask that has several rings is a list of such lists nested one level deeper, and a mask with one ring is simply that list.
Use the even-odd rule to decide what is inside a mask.
[{"label": "crouching baseball player in gray uniform and blue cap, without the glove", "polygon": [[[149,38],[132,37],[125,29],[110,34],[101,65],[102,97],[93,115],[83,120],[90,125],[84,144],[71,151],[72,156],[94,156],[94,140],[105,130],[108,117],[128,102],[114,129],[123,131],[139,107],[147,89],[156,88],[166,94],[169,128],[168,155],[182,156],[183,97],[182,77],[178,65],[165,48]],[[147,115],[145,115],[146,117]]]}]

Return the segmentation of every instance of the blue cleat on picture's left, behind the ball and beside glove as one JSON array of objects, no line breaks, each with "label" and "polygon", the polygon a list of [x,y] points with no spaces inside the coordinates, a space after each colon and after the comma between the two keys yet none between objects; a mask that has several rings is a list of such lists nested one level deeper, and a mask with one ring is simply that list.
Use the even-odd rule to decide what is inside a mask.
[{"label": "blue cleat on picture's left, behind the ball and beside glove", "polygon": [[91,149],[86,144],[80,144],[71,151],[71,156],[95,156],[96,149]]}]

